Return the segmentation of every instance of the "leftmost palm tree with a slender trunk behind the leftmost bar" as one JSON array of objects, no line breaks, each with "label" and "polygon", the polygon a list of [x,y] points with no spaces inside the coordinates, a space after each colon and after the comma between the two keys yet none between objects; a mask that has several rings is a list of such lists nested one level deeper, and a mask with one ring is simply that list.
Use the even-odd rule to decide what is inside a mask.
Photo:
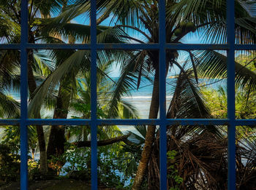
[{"label": "leftmost palm tree with a slender trunk behind the leftmost bar", "polygon": [[[29,42],[35,42],[34,36],[34,26],[35,26],[35,14],[39,9],[50,9],[55,5],[48,4],[48,7],[41,7],[39,6],[38,1],[31,1],[29,7]],[[50,6],[50,7],[49,7]],[[34,7],[34,8],[32,8]],[[20,41],[20,1],[1,1],[0,4],[0,12],[1,18],[4,20],[4,28],[1,31],[1,41],[8,42],[8,43],[18,43]],[[32,13],[32,10],[34,12]],[[12,28],[15,26],[14,28]],[[17,54],[18,52],[16,52]],[[9,60],[8,63],[10,66],[15,65],[18,63],[18,55],[15,55],[14,58],[17,60]],[[29,51],[29,61],[28,61],[28,82],[29,82],[29,94],[32,95],[34,90],[37,88],[36,80],[33,74],[33,53]],[[37,114],[39,115],[39,114]],[[45,151],[45,137],[43,135],[42,127],[37,126],[37,136],[39,140],[39,147],[40,147],[40,157],[41,157],[41,170],[45,172],[45,168],[47,169],[46,165],[47,162],[45,161],[46,151]]]}]

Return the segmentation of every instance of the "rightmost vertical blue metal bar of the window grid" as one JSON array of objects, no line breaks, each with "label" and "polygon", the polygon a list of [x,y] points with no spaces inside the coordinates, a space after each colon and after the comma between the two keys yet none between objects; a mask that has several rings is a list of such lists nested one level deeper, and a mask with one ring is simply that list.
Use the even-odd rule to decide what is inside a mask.
[{"label": "rightmost vertical blue metal bar of the window grid", "polygon": [[227,0],[227,117],[230,119],[228,126],[228,174],[227,188],[236,189],[236,124],[235,124],[235,3]]}]

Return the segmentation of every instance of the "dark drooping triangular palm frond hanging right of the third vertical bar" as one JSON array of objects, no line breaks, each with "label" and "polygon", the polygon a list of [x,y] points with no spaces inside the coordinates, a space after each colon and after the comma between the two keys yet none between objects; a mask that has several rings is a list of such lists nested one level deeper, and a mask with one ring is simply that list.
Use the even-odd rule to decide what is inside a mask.
[{"label": "dark drooping triangular palm frond hanging right of the third vertical bar", "polygon": [[[197,82],[192,79],[192,70],[181,71],[176,81],[176,86],[172,87],[173,98],[167,111],[168,118],[211,118],[211,113],[206,105],[206,100],[197,88]],[[222,136],[216,126],[170,126],[170,132],[177,139],[184,138],[190,132],[214,132]]]}]

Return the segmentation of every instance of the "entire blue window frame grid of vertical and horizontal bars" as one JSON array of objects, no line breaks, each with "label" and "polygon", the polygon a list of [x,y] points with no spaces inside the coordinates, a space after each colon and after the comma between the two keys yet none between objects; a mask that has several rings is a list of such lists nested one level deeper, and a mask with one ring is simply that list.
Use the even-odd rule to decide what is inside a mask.
[{"label": "entire blue window frame grid of vertical and horizontal bars", "polygon": [[[30,124],[87,124],[91,126],[91,189],[97,189],[97,125],[105,124],[156,124],[160,128],[160,189],[167,189],[167,139],[166,126],[170,124],[219,124],[228,125],[228,189],[236,189],[236,126],[253,125],[256,119],[235,117],[235,50],[256,50],[255,44],[235,44],[235,4],[227,0],[227,44],[167,44],[165,41],[165,0],[159,0],[159,44],[97,44],[96,0],[91,0],[91,44],[29,44],[28,2],[21,1],[20,44],[1,44],[0,49],[20,50],[20,119],[1,119],[1,124],[20,125],[20,188],[28,189],[27,126]],[[91,119],[28,119],[27,115],[27,50],[30,49],[74,49],[91,50]],[[97,119],[97,50],[159,50],[159,119]],[[227,50],[227,119],[167,119],[165,107],[165,50]]]}]

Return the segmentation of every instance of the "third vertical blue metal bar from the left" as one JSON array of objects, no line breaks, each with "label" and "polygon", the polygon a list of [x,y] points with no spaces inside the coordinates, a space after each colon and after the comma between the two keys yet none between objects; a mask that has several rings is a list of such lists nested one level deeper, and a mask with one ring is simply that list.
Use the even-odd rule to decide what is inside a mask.
[{"label": "third vertical blue metal bar from the left", "polygon": [[167,189],[165,0],[159,1],[160,189]]}]

